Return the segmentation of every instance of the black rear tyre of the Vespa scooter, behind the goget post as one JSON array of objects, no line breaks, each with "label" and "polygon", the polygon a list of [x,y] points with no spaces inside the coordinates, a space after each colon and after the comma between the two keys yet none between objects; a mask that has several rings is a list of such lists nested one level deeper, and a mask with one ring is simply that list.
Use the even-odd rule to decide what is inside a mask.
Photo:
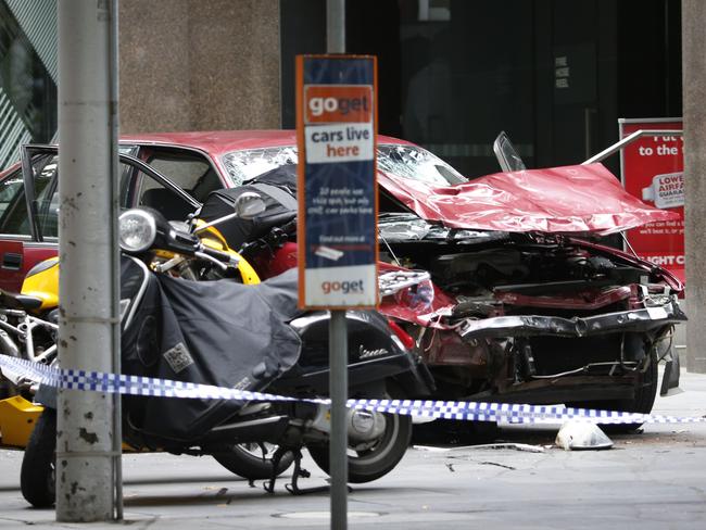
[{"label": "black rear tyre of the Vespa scooter, behind the goget post", "polygon": [[[348,479],[351,483],[370,482],[389,474],[400,463],[412,438],[412,418],[386,414],[384,432],[363,450],[349,447]],[[306,447],[323,471],[330,474],[329,445]]]}]

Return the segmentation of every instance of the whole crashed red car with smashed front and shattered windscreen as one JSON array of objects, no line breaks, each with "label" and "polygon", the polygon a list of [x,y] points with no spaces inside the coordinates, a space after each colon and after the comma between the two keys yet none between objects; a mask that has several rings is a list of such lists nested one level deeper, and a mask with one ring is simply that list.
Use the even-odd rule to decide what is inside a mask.
[{"label": "whole crashed red car with smashed front and shattered windscreen", "polygon": [[[678,382],[671,333],[685,320],[683,286],[595,240],[672,214],[626,193],[601,164],[528,171],[505,148],[506,171],[469,180],[423,148],[379,137],[380,311],[412,339],[439,398],[650,412],[660,358],[669,362],[663,390]],[[210,191],[297,163],[294,131],[140,135],[124,138],[122,151],[123,206],[156,206],[169,218],[184,218]],[[51,252],[55,232],[42,229],[55,227],[55,148],[26,152],[35,171],[25,182],[49,175],[27,192],[48,192],[27,198],[34,205],[24,211],[37,219],[26,224],[15,218],[17,197],[26,198],[11,197],[0,245],[17,243],[4,227],[23,226],[25,250]],[[0,197],[20,172],[0,177]],[[27,253],[13,249],[0,249],[3,267],[28,268]],[[295,263],[290,241],[269,273]]]}]

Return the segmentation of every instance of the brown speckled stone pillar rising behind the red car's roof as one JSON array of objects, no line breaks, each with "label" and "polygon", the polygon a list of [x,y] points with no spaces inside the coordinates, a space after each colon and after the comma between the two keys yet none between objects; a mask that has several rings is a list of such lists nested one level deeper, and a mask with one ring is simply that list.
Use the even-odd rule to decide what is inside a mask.
[{"label": "brown speckled stone pillar rising behind the red car's roof", "polygon": [[121,130],[279,128],[279,0],[121,0]]}]

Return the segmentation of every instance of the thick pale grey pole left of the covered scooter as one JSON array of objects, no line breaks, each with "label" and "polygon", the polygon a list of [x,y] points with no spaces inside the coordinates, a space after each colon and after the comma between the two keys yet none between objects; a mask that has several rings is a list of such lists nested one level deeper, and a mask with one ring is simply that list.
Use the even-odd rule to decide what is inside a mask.
[{"label": "thick pale grey pole left of the covered scooter", "polygon": [[[111,373],[119,341],[117,258],[117,0],[60,0],[59,363]],[[121,516],[114,398],[60,390],[56,520]],[[117,506],[116,506],[117,505]]]}]

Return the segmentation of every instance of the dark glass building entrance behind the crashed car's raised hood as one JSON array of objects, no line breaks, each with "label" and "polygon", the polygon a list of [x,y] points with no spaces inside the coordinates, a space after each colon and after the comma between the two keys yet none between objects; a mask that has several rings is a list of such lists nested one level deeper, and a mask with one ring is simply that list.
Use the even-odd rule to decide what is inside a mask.
[{"label": "dark glass building entrance behind the crashed car's raised hood", "polygon": [[[326,2],[280,5],[293,127],[293,58],[325,52]],[[346,48],[378,56],[380,134],[468,177],[500,171],[501,130],[528,167],[546,167],[617,141],[619,117],[681,115],[679,0],[349,0]]]}]

